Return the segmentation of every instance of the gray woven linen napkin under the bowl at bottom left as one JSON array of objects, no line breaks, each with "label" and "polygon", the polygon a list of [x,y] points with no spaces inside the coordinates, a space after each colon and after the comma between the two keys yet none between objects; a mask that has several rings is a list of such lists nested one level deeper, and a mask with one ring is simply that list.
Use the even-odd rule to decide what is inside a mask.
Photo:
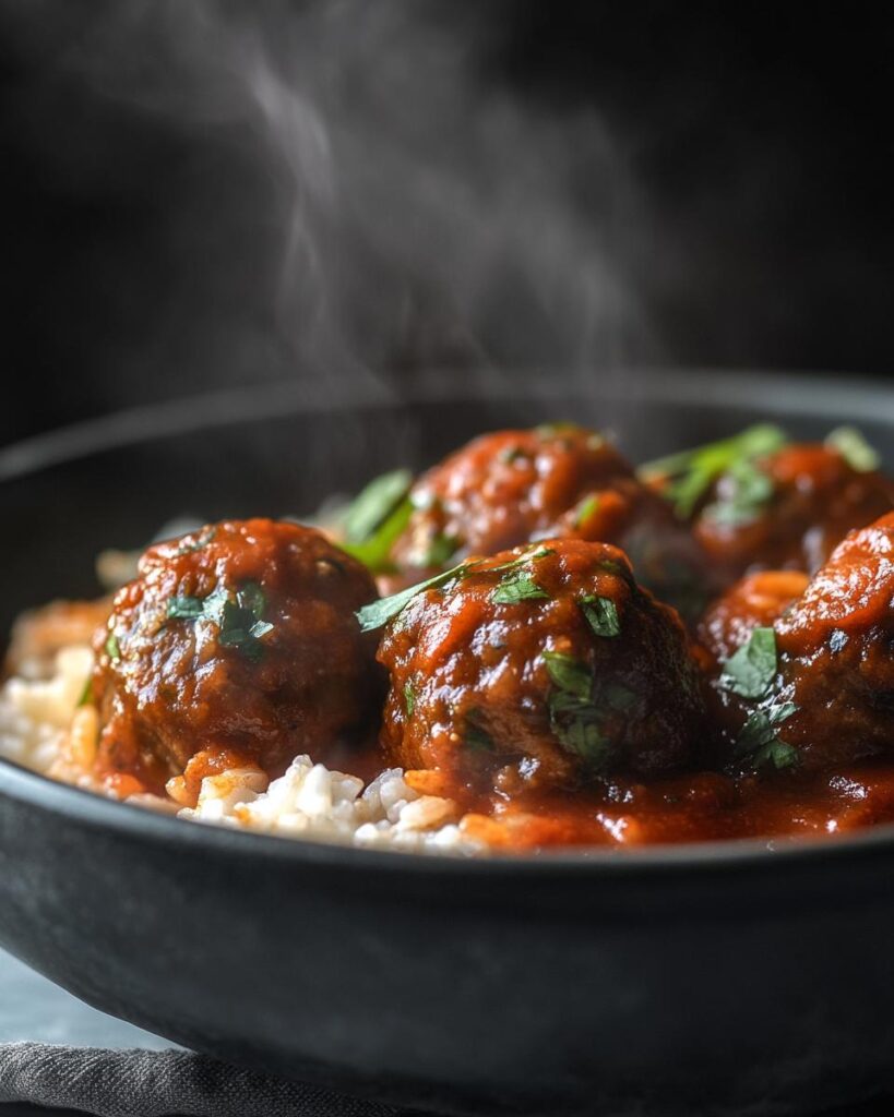
[{"label": "gray woven linen napkin under the bowl at bottom left", "polygon": [[0,1102],[94,1117],[409,1117],[406,1110],[241,1070],[191,1051],[0,1044]]}]

